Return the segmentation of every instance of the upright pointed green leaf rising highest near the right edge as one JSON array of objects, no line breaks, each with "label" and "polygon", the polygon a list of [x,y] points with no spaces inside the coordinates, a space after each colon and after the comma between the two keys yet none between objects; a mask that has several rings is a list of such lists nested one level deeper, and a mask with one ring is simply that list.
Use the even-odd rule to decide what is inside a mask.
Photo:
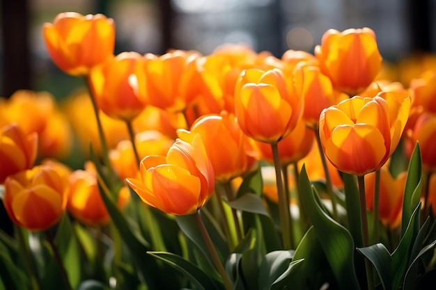
[{"label": "upright pointed green leaf rising highest near the right edge", "polygon": [[407,225],[414,209],[419,203],[421,196],[421,151],[419,143],[416,143],[412,156],[410,157],[409,168],[407,169],[406,184],[403,198],[403,213],[401,217],[401,236],[405,234]]}]

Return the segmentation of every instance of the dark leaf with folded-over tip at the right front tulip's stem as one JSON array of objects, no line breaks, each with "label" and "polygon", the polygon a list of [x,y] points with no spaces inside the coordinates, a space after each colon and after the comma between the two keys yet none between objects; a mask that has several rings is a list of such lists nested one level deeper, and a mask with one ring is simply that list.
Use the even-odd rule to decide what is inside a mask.
[{"label": "dark leaf with folded-over tip at the right front tulip's stem", "polygon": [[384,290],[394,289],[391,287],[391,254],[382,243],[376,243],[366,248],[358,248],[371,263],[374,265],[375,271],[377,271],[378,277],[382,282]]}]

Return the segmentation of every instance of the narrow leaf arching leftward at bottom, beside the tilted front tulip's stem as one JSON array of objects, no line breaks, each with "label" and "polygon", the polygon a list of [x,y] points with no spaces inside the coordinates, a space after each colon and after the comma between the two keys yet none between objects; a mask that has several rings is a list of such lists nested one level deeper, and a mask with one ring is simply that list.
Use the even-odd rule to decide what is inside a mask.
[{"label": "narrow leaf arching leftward at bottom, beside the tilted front tulip's stem", "polygon": [[171,252],[148,252],[148,254],[176,268],[196,286],[196,289],[222,289],[221,285],[212,280],[212,278],[207,273],[204,273],[201,268],[198,268],[183,257]]}]

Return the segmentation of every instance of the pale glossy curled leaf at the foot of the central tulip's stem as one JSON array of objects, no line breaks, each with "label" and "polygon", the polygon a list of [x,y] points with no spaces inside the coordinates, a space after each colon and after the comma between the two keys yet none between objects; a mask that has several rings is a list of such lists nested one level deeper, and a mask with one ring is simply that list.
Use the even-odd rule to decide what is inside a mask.
[{"label": "pale glossy curled leaf at the foot of the central tulip's stem", "polygon": [[263,257],[259,269],[259,289],[283,289],[289,281],[289,275],[303,259],[293,261],[294,251],[277,250]]}]

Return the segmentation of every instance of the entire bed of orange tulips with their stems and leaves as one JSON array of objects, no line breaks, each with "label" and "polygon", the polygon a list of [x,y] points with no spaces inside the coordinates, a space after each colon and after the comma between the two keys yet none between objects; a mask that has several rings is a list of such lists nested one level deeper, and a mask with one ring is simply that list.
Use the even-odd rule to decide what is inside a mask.
[{"label": "entire bed of orange tulips with their stems and leaves", "polygon": [[[368,28],[281,58],[244,45],[114,55],[100,14],[61,13],[42,33],[88,90],[1,99],[14,231],[0,232],[0,289],[434,280],[435,57],[389,72]],[[73,144],[81,168],[62,161]]]}]

